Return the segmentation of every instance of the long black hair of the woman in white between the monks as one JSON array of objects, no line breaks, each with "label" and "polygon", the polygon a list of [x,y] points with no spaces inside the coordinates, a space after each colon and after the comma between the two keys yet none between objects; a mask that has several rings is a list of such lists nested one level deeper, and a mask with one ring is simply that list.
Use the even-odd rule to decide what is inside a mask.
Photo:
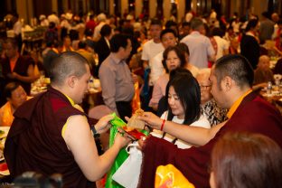
[{"label": "long black hair of the woman in white between the monks", "polygon": [[[174,87],[185,112],[183,124],[190,125],[200,118],[201,91],[198,81],[190,71],[183,68],[172,71],[170,77],[166,86],[165,98],[168,101],[168,90],[170,87]],[[173,118],[174,114],[168,105],[167,120]]]}]

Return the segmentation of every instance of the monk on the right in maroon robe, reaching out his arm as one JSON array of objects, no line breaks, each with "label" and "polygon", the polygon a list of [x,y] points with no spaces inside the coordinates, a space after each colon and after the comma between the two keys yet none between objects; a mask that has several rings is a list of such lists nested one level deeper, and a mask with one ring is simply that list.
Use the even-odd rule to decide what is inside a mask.
[{"label": "monk on the right in maroon robe, reaching out his arm", "polygon": [[246,58],[240,55],[222,57],[213,65],[210,80],[211,94],[219,107],[230,109],[224,126],[217,125],[211,129],[183,126],[163,121],[149,112],[140,117],[150,127],[162,129],[197,147],[179,149],[163,139],[147,138],[143,146],[144,165],[139,187],[154,187],[155,169],[161,164],[174,164],[195,187],[209,187],[208,166],[212,147],[228,132],[262,134],[282,147],[281,114],[252,91],[253,70]]}]

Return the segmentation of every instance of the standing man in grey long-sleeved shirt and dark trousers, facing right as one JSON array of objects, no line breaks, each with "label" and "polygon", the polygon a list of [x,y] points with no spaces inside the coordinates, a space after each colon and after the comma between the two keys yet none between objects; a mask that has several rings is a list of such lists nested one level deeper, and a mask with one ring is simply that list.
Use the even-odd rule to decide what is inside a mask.
[{"label": "standing man in grey long-sleeved shirt and dark trousers, facing right", "polygon": [[131,100],[135,94],[133,78],[126,62],[131,49],[127,35],[114,35],[110,40],[111,53],[99,68],[104,102],[122,119],[131,117]]}]

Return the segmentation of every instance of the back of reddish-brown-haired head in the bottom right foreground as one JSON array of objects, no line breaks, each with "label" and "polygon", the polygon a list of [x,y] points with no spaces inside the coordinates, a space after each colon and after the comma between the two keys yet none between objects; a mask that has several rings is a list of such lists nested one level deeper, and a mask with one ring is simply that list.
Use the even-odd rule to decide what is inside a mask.
[{"label": "back of reddish-brown-haired head in the bottom right foreground", "polygon": [[273,188],[282,184],[282,150],[268,136],[226,134],[211,154],[211,188]]}]

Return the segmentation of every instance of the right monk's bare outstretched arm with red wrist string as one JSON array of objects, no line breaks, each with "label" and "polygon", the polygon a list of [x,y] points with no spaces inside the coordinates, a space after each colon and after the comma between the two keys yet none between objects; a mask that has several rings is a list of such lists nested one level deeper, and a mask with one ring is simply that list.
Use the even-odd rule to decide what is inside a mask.
[{"label": "right monk's bare outstretched arm with red wrist string", "polygon": [[144,120],[149,127],[153,127],[157,130],[161,129],[164,122],[164,132],[194,146],[207,144],[226,123],[225,121],[211,128],[183,126],[172,121],[164,121],[151,112],[145,112],[144,116],[139,118]]}]

